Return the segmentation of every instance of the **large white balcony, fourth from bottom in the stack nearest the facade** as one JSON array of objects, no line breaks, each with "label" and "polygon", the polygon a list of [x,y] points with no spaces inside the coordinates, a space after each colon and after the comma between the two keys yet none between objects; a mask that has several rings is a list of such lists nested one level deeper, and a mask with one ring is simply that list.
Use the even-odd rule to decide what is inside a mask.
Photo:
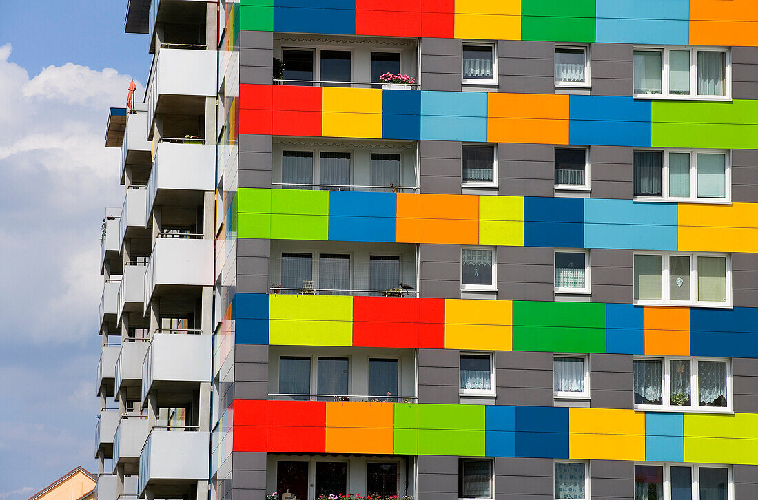
[{"label": "large white balcony, fourth from bottom in the stack nearest the facade", "polygon": [[161,139],[147,184],[146,211],[154,205],[202,205],[202,192],[215,189],[216,150],[202,139]]}]

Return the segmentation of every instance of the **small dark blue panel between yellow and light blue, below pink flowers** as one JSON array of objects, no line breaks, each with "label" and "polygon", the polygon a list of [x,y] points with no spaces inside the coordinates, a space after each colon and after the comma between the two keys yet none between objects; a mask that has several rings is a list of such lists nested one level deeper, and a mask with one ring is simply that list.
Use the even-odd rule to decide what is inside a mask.
[{"label": "small dark blue panel between yellow and light blue, below pink flowers", "polygon": [[382,111],[383,139],[421,139],[420,91],[384,90]]}]

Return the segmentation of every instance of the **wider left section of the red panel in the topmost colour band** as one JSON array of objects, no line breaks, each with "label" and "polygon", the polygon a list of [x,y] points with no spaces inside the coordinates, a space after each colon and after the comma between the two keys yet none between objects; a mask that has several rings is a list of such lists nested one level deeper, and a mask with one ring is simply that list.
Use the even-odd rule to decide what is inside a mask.
[{"label": "wider left section of the red panel in the topmost colour band", "polygon": [[421,0],[358,0],[356,34],[421,36]]}]

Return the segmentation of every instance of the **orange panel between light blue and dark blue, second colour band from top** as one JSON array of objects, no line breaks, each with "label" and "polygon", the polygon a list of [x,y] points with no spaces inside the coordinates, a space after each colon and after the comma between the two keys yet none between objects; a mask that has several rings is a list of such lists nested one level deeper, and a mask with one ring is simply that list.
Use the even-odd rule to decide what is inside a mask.
[{"label": "orange panel between light blue and dark blue, second colour band from top", "polygon": [[568,95],[488,93],[487,141],[568,144]]}]

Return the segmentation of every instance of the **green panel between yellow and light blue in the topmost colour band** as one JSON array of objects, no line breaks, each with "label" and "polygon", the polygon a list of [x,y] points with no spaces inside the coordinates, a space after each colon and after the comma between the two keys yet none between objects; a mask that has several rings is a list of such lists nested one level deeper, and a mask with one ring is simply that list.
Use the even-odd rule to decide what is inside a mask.
[{"label": "green panel between yellow and light blue in the topmost colour band", "polygon": [[595,0],[522,0],[522,40],[594,42]]}]

